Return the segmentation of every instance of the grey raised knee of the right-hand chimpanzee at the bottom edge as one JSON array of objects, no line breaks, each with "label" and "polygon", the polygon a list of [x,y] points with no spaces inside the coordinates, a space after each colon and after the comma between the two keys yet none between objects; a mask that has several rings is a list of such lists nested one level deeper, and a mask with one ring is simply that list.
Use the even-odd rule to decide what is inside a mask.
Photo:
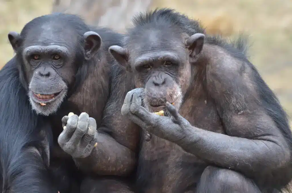
[{"label": "grey raised knee of the right-hand chimpanzee at the bottom edge", "polygon": [[197,193],[261,193],[253,180],[229,169],[208,166],[201,175]]}]

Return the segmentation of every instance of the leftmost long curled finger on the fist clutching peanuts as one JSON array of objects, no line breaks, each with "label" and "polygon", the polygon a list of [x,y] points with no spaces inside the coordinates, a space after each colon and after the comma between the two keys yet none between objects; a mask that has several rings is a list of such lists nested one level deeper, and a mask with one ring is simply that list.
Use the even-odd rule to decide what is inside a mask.
[{"label": "leftmost long curled finger on the fist clutching peanuts", "polygon": [[66,128],[58,137],[58,141],[61,143],[66,143],[72,137],[78,123],[78,115],[72,115],[68,118]]}]

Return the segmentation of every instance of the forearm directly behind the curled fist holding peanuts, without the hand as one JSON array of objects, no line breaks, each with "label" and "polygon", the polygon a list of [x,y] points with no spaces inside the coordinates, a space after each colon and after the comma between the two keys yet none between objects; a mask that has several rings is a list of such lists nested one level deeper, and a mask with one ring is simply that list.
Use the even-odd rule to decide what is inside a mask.
[{"label": "forearm directly behind the curled fist holding peanuts, without the hand", "polygon": [[74,160],[77,166],[85,172],[123,176],[134,168],[135,153],[111,136],[99,133],[97,146],[93,148],[91,155]]}]

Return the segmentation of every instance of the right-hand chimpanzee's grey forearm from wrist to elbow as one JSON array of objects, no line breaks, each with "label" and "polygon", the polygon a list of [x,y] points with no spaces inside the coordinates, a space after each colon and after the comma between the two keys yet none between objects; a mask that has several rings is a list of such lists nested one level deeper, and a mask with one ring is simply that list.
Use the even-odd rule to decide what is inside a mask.
[{"label": "right-hand chimpanzee's grey forearm from wrist to elbow", "polygon": [[242,173],[276,169],[290,156],[284,139],[276,136],[247,139],[190,127],[176,143],[201,159]]}]

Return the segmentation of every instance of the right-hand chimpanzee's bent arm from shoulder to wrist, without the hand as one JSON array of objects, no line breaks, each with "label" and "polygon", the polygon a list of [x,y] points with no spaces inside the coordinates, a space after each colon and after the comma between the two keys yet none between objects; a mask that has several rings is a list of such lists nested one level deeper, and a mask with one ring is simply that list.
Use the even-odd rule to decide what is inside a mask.
[{"label": "right-hand chimpanzee's bent arm from shoulder to wrist, without the hand", "polygon": [[[287,128],[279,128],[267,114],[272,109],[276,109],[276,116],[283,114],[277,99],[270,99],[270,103],[263,99],[261,95],[272,91],[251,65],[227,58],[206,69],[208,93],[227,135],[190,126],[185,138],[177,143],[201,159],[245,174],[281,167],[291,172],[291,149],[283,136],[284,132],[290,133],[291,140],[288,124]],[[278,120],[286,121],[285,117]]]}]

